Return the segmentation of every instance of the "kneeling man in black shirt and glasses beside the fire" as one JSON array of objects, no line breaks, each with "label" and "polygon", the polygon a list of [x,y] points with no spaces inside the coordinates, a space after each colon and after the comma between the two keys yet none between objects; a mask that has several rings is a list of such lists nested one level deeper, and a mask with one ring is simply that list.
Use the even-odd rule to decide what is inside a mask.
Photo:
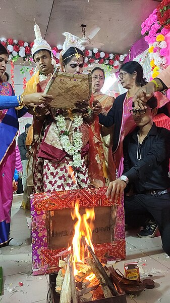
[{"label": "kneeling man in black shirt and glasses beside the fire", "polygon": [[117,201],[131,187],[133,195],[124,200],[125,223],[131,226],[147,223],[147,228],[138,235],[148,233],[149,237],[154,232],[149,220],[155,220],[163,250],[170,255],[170,132],[153,123],[156,107],[157,99],[152,97],[146,109],[130,111],[138,127],[124,140],[123,175],[109,184],[107,197]]}]

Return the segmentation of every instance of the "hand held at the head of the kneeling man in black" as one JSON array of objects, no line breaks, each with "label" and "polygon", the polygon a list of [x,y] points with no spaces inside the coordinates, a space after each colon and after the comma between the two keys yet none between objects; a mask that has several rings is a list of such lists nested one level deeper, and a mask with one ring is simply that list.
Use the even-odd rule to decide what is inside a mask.
[{"label": "hand held at the head of the kneeling man in black", "polygon": [[136,109],[145,109],[146,102],[153,96],[155,92],[155,85],[149,82],[142,86],[133,97],[133,102]]}]

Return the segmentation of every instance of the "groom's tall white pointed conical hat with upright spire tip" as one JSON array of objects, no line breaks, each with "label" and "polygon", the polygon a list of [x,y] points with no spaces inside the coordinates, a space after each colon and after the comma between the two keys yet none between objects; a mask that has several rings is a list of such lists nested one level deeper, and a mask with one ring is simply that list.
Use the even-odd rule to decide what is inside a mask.
[{"label": "groom's tall white pointed conical hat with upright spire tip", "polygon": [[[52,49],[51,49],[50,45],[47,43],[47,41],[42,39],[41,32],[40,32],[39,26],[37,24],[34,25],[34,32],[35,32],[35,40],[34,40],[34,45],[32,47],[32,50],[31,50],[32,59],[33,59],[34,54],[40,50],[47,50],[47,51],[50,51],[52,54]],[[52,54],[52,57],[53,57],[53,54]]]}]

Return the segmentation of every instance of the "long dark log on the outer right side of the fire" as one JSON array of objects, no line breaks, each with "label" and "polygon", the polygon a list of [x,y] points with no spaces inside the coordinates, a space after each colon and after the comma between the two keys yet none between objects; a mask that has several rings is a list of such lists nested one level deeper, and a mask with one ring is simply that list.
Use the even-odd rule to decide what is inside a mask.
[{"label": "long dark log on the outer right side of the fire", "polygon": [[[91,249],[91,247],[89,245],[87,245],[87,248],[92,256],[92,259],[93,259],[93,264],[95,264],[95,266],[93,266],[93,269],[97,269],[98,272],[100,273],[99,276],[102,276],[105,283],[107,284],[108,288],[111,290],[111,292],[114,294],[114,295],[119,295],[119,292],[116,290],[114,284],[112,284],[110,278],[107,276],[105,270],[103,269],[102,267],[102,264],[99,262],[99,259],[97,258],[97,256],[95,255],[95,253],[93,252],[93,250]],[[87,258],[87,262],[88,264],[90,265],[89,263],[89,258]],[[91,263],[92,264],[92,263]],[[91,265],[90,265],[91,267]],[[92,271],[93,271],[92,269]],[[95,274],[95,272],[94,272]],[[96,276],[96,274],[95,274]],[[98,279],[98,277],[96,276],[96,278]],[[98,279],[99,280],[99,279]],[[100,280],[99,280],[100,281]]]}]

